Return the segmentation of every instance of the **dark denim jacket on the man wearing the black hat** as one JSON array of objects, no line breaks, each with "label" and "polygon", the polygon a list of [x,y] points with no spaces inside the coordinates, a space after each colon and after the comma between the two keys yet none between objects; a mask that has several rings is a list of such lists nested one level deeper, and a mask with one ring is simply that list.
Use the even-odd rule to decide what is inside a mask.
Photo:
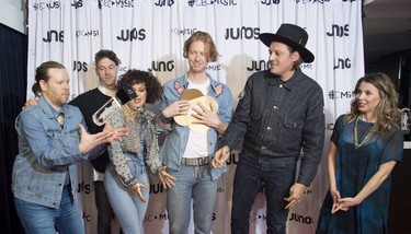
[{"label": "dark denim jacket on the man wearing the black hat", "polygon": [[299,68],[287,82],[270,70],[256,72],[246,83],[221,143],[232,149],[243,139],[242,150],[272,163],[297,161],[302,148],[297,182],[308,186],[322,156],[323,106],[321,86]]}]

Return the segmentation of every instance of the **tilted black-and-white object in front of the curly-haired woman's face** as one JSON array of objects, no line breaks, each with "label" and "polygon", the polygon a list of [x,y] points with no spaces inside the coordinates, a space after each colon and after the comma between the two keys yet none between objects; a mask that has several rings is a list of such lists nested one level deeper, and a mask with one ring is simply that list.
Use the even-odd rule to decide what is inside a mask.
[{"label": "tilted black-and-white object in front of the curly-haired woman's face", "polygon": [[98,126],[103,126],[105,119],[107,119],[113,113],[118,112],[118,109],[128,101],[136,97],[137,94],[132,86],[129,84],[124,84],[112,98],[93,114],[93,122]]}]

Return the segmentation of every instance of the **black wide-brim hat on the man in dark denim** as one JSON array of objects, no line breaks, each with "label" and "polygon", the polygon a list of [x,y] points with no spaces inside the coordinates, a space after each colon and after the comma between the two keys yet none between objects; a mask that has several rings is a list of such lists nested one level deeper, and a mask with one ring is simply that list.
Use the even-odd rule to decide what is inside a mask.
[{"label": "black wide-brim hat on the man in dark denim", "polygon": [[276,34],[262,33],[260,39],[264,45],[270,47],[272,42],[284,43],[285,45],[297,50],[304,62],[312,62],[313,55],[306,48],[308,40],[307,32],[294,24],[282,24]]}]

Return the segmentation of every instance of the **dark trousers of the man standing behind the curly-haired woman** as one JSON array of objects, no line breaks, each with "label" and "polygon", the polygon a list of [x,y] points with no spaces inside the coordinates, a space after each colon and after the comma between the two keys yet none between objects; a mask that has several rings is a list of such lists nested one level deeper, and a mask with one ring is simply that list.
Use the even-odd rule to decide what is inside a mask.
[{"label": "dark trousers of the man standing behind the curly-haired woman", "polygon": [[98,233],[111,234],[113,209],[110,206],[107,194],[105,192],[104,182],[94,182],[95,207],[98,208]]}]

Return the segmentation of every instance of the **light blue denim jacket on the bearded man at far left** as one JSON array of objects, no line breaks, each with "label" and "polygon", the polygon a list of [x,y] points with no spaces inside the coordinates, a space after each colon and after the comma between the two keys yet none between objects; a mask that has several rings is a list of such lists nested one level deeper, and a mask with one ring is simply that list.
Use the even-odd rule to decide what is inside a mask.
[{"label": "light blue denim jacket on the bearded man at far left", "polygon": [[83,116],[71,105],[62,106],[60,113],[65,116],[62,129],[57,121],[59,113],[41,97],[38,105],[27,106],[16,117],[19,154],[12,173],[14,197],[58,208],[67,169],[71,188],[76,190],[77,162],[88,159],[89,154],[99,155],[104,149],[101,145],[89,154],[81,154],[78,124],[84,125]]}]

